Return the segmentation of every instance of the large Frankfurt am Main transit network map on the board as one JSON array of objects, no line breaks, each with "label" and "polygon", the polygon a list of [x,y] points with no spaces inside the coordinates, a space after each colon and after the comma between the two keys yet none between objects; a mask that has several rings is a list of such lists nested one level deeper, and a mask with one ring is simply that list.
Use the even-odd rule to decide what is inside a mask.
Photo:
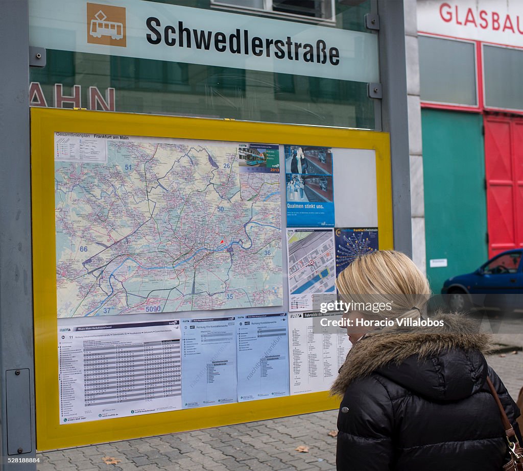
[{"label": "large Frankfurt am Main transit network map on the board", "polygon": [[56,132],[54,159],[58,317],[282,305],[280,195],[242,199],[238,143]]}]

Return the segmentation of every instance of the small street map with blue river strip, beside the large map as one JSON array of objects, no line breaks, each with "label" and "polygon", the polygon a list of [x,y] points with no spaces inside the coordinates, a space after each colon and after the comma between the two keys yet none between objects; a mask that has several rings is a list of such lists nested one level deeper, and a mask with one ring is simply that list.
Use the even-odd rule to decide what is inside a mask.
[{"label": "small street map with blue river strip, beside the large map", "polygon": [[313,295],[335,297],[336,262],[332,229],[287,229],[290,311],[314,306]]}]

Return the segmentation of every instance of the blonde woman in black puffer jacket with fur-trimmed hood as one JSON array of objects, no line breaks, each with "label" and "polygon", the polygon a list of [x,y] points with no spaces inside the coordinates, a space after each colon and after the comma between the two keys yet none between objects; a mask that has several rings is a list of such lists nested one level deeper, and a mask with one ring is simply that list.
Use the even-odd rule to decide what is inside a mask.
[{"label": "blonde woman in black puffer jacket with fur-trimmed hood", "polygon": [[460,315],[427,326],[427,279],[401,252],[357,258],[336,285],[368,309],[347,315],[353,348],[332,387],[343,397],[338,471],[501,470],[507,446],[487,375],[517,434],[519,410],[483,356],[490,337]]}]

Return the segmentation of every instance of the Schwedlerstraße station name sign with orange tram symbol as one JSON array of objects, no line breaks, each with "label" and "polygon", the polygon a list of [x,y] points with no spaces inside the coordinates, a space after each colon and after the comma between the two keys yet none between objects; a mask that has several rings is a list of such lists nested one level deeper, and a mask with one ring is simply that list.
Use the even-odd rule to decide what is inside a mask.
[{"label": "Schwedlerstra\u00dfe station name sign with orange tram symbol", "polygon": [[30,0],[47,49],[378,82],[372,33],[143,0]]}]

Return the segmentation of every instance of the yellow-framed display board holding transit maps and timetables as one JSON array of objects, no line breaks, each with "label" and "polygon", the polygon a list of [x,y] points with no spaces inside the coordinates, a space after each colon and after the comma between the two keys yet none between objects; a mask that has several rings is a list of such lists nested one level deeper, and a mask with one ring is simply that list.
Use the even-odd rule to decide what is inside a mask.
[{"label": "yellow-framed display board holding transit maps and timetables", "polygon": [[[350,342],[316,304],[337,296],[339,231],[392,248],[388,135],[31,115],[40,450],[337,406]],[[289,210],[300,189],[330,192],[325,224]]]}]

